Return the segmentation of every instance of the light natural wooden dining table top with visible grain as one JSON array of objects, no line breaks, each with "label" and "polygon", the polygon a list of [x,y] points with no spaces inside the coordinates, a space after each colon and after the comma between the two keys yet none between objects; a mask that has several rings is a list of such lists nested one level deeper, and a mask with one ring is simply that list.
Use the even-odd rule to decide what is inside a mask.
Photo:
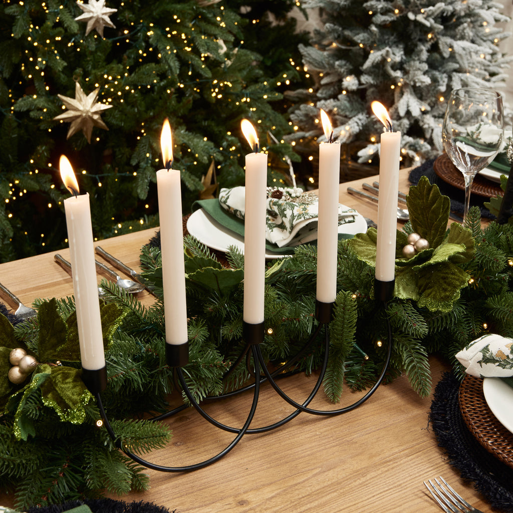
[{"label": "light natural wooden dining table top with visible grain", "polygon": [[[376,204],[346,193],[348,186],[361,189],[362,182],[372,180],[341,184],[340,197],[342,203],[376,220]],[[407,191],[407,187],[403,172],[400,190]],[[155,231],[122,235],[101,245],[140,269],[139,250]],[[68,250],[61,253],[69,257]],[[0,265],[0,281],[27,305],[36,297],[72,294],[71,278],[53,261],[53,253]],[[141,300],[151,304],[153,298],[143,293]],[[436,384],[448,366],[434,357],[430,363]],[[313,380],[296,376],[282,383],[294,399],[301,400],[307,397]],[[319,396],[312,407],[333,407],[322,392]],[[345,390],[336,407],[358,397]],[[242,425],[249,403],[249,397],[237,397],[207,408],[221,421]],[[422,481],[442,475],[469,502],[491,512],[472,485],[460,480],[459,472],[438,447],[428,423],[430,404],[431,398],[420,399],[401,376],[382,385],[363,406],[342,416],[321,418],[302,413],[280,429],[246,435],[224,459],[204,469],[186,474],[149,471],[151,489],[122,499],[153,502],[177,513],[437,513],[441,510]],[[252,427],[275,422],[290,411],[264,386]],[[167,450],[151,455],[155,463],[179,466],[202,461],[233,437],[211,427],[194,410],[181,412],[170,425],[173,438]],[[12,505],[12,498],[0,495],[0,504]]]}]

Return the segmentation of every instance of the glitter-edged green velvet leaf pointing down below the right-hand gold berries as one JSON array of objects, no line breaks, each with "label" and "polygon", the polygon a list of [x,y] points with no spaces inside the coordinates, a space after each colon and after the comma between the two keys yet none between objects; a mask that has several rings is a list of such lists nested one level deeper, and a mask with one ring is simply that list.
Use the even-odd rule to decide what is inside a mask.
[{"label": "glitter-edged green velvet leaf pointing down below the right-hand gold berries", "polygon": [[418,305],[431,311],[450,312],[459,299],[460,290],[468,285],[468,274],[451,262],[440,262],[419,271]]}]

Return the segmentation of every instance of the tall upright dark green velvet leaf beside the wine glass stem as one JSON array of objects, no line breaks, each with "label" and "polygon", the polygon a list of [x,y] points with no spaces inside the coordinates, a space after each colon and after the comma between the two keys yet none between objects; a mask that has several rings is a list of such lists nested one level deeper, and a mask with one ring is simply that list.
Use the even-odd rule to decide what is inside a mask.
[{"label": "tall upright dark green velvet leaf beside the wine glass stem", "polygon": [[406,204],[413,229],[429,242],[429,247],[437,248],[447,230],[449,198],[442,196],[438,186],[431,185],[427,177],[422,176],[418,185],[410,187]]}]

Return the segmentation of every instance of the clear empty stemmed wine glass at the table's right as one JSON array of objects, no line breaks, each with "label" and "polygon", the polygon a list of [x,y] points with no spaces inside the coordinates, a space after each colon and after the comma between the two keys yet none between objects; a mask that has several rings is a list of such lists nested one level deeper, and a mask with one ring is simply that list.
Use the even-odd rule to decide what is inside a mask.
[{"label": "clear empty stemmed wine glass at the table's right", "polygon": [[465,179],[466,219],[476,174],[494,160],[504,134],[502,96],[491,89],[454,89],[445,111],[442,141],[452,163]]}]

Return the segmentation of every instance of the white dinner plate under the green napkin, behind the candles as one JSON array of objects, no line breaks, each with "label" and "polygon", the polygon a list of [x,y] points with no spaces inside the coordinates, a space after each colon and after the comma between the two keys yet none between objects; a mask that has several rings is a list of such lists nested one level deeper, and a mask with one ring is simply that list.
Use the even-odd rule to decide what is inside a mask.
[{"label": "white dinner plate under the green napkin, behind the candles", "polygon": [[[244,253],[244,237],[226,230],[226,228],[215,221],[203,208],[194,211],[187,220],[187,231],[202,244],[218,251],[227,251],[229,246],[236,246]],[[367,223],[359,213],[356,213],[354,223],[347,223],[339,226],[339,233],[348,233],[356,235],[365,233]],[[277,259],[286,255],[281,253],[272,253],[266,250],[265,258]]]}]

